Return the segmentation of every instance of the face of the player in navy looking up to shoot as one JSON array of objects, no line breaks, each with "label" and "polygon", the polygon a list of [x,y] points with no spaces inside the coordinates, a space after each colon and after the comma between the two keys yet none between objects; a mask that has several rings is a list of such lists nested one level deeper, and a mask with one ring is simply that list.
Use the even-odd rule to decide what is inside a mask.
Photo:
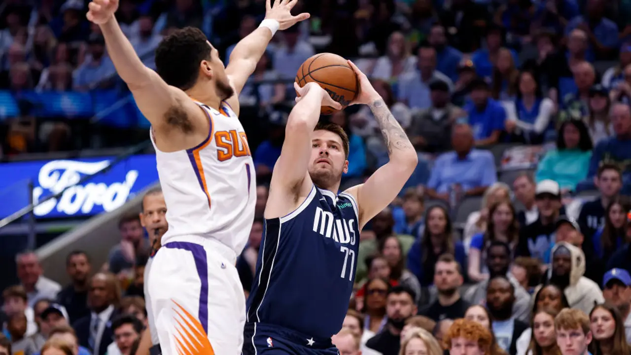
[{"label": "face of the player in navy looking up to shoot", "polygon": [[341,138],[331,131],[314,131],[309,176],[319,188],[333,188],[348,171],[348,160]]}]

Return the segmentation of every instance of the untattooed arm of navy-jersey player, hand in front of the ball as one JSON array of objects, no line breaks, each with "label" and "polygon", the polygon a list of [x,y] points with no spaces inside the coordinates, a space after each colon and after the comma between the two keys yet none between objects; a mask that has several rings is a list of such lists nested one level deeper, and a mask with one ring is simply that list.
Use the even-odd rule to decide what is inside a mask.
[{"label": "untattooed arm of navy-jersey player, hand in front of the ball", "polygon": [[311,136],[320,118],[320,107],[331,105],[341,109],[341,105],[317,83],[307,83],[302,88],[294,83],[294,87],[299,97],[287,119],[285,141],[272,172],[266,219],[289,214],[302,203],[300,197],[309,195],[312,182],[307,169],[312,149]]}]

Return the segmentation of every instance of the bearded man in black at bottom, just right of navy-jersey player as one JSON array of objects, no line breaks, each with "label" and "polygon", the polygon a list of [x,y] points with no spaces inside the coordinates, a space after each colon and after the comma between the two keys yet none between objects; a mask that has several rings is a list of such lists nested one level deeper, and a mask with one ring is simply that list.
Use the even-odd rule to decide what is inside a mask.
[{"label": "bearded man in black at bottom, just right of navy-jersey player", "polygon": [[399,354],[401,330],[405,321],[416,314],[416,295],[405,286],[393,287],[387,294],[387,327],[366,342],[366,346],[383,355]]}]

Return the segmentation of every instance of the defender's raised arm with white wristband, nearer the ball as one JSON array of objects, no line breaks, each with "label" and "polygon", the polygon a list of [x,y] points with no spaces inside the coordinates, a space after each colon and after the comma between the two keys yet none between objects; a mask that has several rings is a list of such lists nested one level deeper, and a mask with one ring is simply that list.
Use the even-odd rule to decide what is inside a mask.
[{"label": "defender's raised arm with white wristband, nearer the ball", "polygon": [[[243,89],[245,81],[254,73],[256,63],[261,59],[276,30],[286,30],[295,23],[309,18],[308,13],[292,15],[292,8],[298,0],[274,0],[273,4],[271,1],[266,0],[265,20],[261,22],[259,28],[240,40],[230,54],[226,73],[236,93],[230,100],[235,102],[238,102],[239,93]],[[228,101],[230,102],[230,100]]]}]

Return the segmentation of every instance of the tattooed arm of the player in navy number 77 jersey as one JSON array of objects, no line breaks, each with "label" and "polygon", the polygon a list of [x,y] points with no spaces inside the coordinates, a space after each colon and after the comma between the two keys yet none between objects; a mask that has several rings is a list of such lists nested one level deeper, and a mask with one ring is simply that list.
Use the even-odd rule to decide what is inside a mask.
[{"label": "tattooed arm of the player in navy number 77 jersey", "polygon": [[355,70],[360,81],[360,93],[353,104],[367,104],[370,107],[375,120],[379,123],[390,159],[365,183],[353,186],[347,191],[355,196],[359,205],[361,229],[399,194],[414,172],[418,156],[405,131],[394,119],[384,100],[370,85],[366,75],[351,61],[348,63]]}]

